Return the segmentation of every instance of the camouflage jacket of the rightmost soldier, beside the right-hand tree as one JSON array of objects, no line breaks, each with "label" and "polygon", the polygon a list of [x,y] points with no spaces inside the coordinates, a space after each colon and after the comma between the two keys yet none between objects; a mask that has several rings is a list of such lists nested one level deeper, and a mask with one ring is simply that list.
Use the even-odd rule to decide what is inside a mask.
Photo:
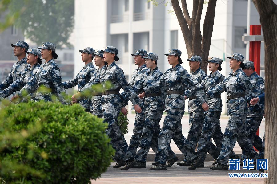
[{"label": "camouflage jacket of the rightmost soldier, beside the right-hand tree", "polygon": [[[250,82],[255,86],[255,89],[258,90],[258,95],[264,93],[264,80],[256,72],[252,73],[249,77]],[[250,94],[246,94],[248,98]],[[258,103],[256,105],[250,105],[248,108],[247,117],[259,117],[264,114],[264,103]]]}]

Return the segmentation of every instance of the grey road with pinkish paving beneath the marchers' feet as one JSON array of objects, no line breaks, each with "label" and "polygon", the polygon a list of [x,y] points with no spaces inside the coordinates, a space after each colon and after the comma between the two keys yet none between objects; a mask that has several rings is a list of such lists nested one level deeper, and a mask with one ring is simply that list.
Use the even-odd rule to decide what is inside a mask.
[{"label": "grey road with pinkish paving beneath the marchers' feet", "polygon": [[240,168],[239,171],[214,171],[211,170],[212,162],[205,162],[205,168],[188,170],[188,166],[177,166],[174,164],[167,171],[151,171],[152,162],[147,162],[146,169],[120,170],[112,168],[111,163],[108,170],[101,178],[93,183],[263,183],[263,178],[229,178],[229,172],[260,173],[259,171]]}]

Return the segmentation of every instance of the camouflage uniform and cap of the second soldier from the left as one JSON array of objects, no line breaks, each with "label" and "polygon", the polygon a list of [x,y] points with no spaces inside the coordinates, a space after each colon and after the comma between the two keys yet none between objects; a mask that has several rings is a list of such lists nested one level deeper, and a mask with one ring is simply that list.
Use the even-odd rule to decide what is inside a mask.
[{"label": "camouflage uniform and cap of the second soldier from the left", "polygon": [[[38,69],[41,64],[41,52],[38,49],[30,49],[29,51],[25,51],[26,54],[31,53],[38,56],[38,62],[36,62],[32,67],[29,65],[29,67],[24,68],[24,71],[22,72],[21,76],[15,80],[8,88],[6,88],[2,94],[0,95],[2,98],[6,98],[10,96],[15,91],[21,90],[36,73],[38,72]],[[21,102],[26,102],[28,100],[34,100],[35,92],[30,93],[27,97],[21,100]]]}]

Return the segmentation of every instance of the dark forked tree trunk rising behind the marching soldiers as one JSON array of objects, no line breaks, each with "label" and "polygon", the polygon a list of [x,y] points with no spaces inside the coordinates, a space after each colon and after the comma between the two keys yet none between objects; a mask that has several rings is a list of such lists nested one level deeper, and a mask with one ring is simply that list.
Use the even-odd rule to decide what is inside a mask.
[{"label": "dark forked tree trunk rising behind the marching soldiers", "polygon": [[178,19],[183,37],[187,48],[187,56],[190,58],[193,55],[201,56],[203,61],[201,69],[207,73],[207,62],[210,46],[211,36],[213,33],[214,19],[215,19],[215,5],[216,0],[209,0],[207,12],[203,25],[203,35],[200,30],[200,20],[203,10],[204,0],[193,0],[192,16],[188,13],[187,1],[182,0],[182,9],[179,5],[179,0],[171,0],[172,7]]}]

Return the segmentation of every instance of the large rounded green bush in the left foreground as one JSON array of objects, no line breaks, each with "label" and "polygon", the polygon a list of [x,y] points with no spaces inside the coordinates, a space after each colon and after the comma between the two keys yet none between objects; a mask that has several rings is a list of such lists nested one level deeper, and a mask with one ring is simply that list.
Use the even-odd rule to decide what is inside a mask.
[{"label": "large rounded green bush in the left foreground", "polygon": [[[90,183],[106,171],[114,155],[106,123],[79,104],[41,101],[10,105],[2,109],[0,121],[26,137],[0,151],[2,166],[14,162],[42,173],[27,172],[22,178],[12,169],[1,171],[0,178],[7,183],[18,179],[24,183]],[[24,131],[34,127],[39,129],[30,135]],[[0,128],[0,137],[5,134],[5,127]]]}]

